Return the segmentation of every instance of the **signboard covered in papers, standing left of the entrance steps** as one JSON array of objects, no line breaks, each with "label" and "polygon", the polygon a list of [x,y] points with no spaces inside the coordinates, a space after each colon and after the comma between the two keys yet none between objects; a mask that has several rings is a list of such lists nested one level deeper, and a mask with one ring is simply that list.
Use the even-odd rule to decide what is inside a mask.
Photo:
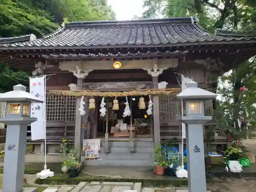
[{"label": "signboard covered in papers, standing left of the entrance steps", "polygon": [[84,139],[83,151],[86,152],[86,159],[99,158],[100,139]]}]

